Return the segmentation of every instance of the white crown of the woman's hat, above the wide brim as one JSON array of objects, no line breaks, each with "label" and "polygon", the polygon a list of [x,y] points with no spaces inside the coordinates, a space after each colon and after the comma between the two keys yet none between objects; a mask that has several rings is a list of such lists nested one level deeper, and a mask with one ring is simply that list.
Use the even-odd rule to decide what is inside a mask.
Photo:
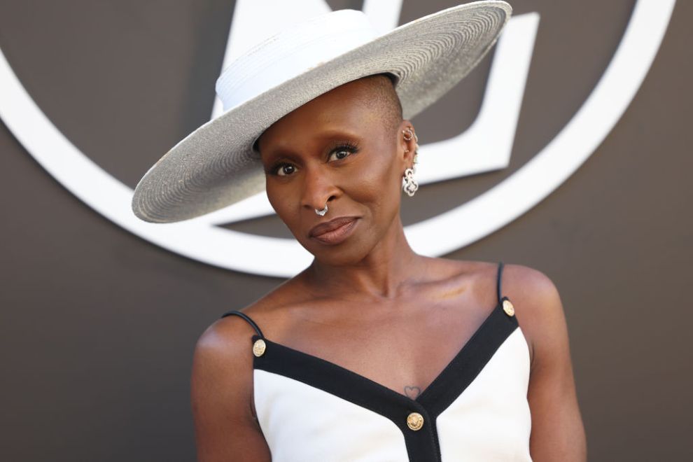
[{"label": "white crown of the woman's hat, above the wide brim", "polygon": [[216,94],[228,111],[377,35],[359,10],[337,10],[298,22],[231,62],[216,80]]}]

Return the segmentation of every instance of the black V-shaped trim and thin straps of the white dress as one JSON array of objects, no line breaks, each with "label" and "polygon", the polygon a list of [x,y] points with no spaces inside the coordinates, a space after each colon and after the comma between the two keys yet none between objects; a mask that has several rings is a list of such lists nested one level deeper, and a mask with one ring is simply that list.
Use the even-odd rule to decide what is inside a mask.
[{"label": "black V-shaped trim and thin straps of the white dress", "polygon": [[[301,381],[377,412],[390,419],[402,431],[409,461],[441,462],[440,442],[435,428],[437,416],[465,391],[489,363],[500,345],[519,326],[515,316],[509,316],[503,311],[503,301],[509,299],[501,296],[502,271],[503,262],[500,262],[496,307],[456,353],[456,356],[416,399],[398,393],[346,367],[272,342],[262,335],[260,328],[251,318],[240,311],[228,311],[223,316],[237,314],[243,317],[258,332],[257,335],[253,335],[252,342],[260,338],[265,341],[265,352],[261,356],[253,356],[253,369],[265,370]],[[411,412],[419,412],[423,416],[423,427],[420,430],[412,430],[407,426],[407,416]]]}]

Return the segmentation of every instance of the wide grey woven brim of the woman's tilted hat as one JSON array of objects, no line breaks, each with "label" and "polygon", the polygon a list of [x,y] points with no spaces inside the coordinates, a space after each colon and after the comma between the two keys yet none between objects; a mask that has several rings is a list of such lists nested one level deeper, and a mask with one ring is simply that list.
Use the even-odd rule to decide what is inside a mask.
[{"label": "wide grey woven brim of the woman's tilted hat", "polygon": [[260,193],[265,173],[253,143],[294,109],[377,73],[396,78],[405,119],[433,104],[486,55],[510,18],[504,1],[478,1],[424,16],[225,111],[179,141],[139,181],[134,214],[173,223]]}]

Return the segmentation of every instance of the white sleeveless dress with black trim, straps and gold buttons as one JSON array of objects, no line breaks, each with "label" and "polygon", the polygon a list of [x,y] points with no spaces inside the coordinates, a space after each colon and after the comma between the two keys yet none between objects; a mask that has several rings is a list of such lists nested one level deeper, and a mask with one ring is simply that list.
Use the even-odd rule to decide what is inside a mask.
[{"label": "white sleeveless dress with black trim, straps and gold buttons", "polygon": [[[502,297],[416,399],[253,335],[255,410],[274,462],[531,461],[529,349]],[[222,316],[222,317],[223,317]]]}]

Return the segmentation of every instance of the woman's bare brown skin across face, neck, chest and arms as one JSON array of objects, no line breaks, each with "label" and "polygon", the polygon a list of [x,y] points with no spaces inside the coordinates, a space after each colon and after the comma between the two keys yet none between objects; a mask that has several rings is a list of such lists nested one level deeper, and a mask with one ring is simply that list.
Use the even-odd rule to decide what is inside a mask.
[{"label": "woman's bare brown skin across face, neck, chest and arms", "polygon": [[[313,99],[258,140],[269,202],[314,260],[241,311],[274,342],[416,398],[496,308],[497,264],[412,251],[400,200],[415,148],[402,130],[414,127],[409,120],[391,124],[392,107],[374,110],[378,78]],[[335,148],[344,141],[358,149]],[[316,215],[325,203],[328,214]],[[358,217],[348,239],[330,246],[309,237],[314,225],[337,216]],[[514,304],[531,358],[531,456],[585,461],[559,293],[542,272],[506,264],[503,295]],[[228,316],[197,341],[191,398],[201,462],[271,460],[253,407],[254,333]],[[435,349],[433,338],[443,340]]]}]

